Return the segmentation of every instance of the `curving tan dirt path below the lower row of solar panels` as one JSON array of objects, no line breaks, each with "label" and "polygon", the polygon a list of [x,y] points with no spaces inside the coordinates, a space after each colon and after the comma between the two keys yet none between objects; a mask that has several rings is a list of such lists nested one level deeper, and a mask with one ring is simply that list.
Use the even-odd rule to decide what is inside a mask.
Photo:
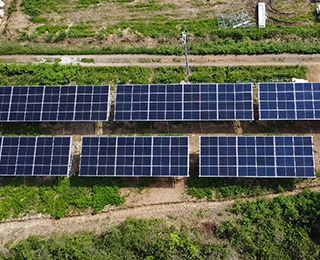
[{"label": "curving tan dirt path below the lower row of solar panels", "polygon": [[[183,182],[181,182],[183,183]],[[310,188],[312,191],[320,191],[320,186]],[[147,189],[144,194],[138,194],[140,198],[148,198],[150,191]],[[170,189],[169,189],[170,190]],[[175,189],[171,189],[175,190]],[[285,192],[285,196],[299,194],[303,188],[292,192]],[[137,194],[137,193],[136,193]],[[180,194],[181,195],[181,194]],[[279,194],[269,194],[264,198],[275,198]],[[134,197],[134,196],[133,196]],[[151,195],[152,197],[152,195]],[[254,201],[259,197],[247,198]],[[80,231],[93,231],[102,233],[111,226],[120,224],[128,217],[134,218],[163,218],[168,224],[197,226],[201,223],[219,223],[225,221],[230,213],[227,209],[234,203],[234,200],[225,201],[195,201],[180,197],[180,200],[152,204],[136,204],[132,200],[120,207],[109,207],[96,215],[84,214],[80,216],[66,217],[55,220],[48,216],[34,216],[29,219],[20,219],[2,222],[0,224],[0,250],[5,251],[4,245],[9,241],[17,242],[27,238],[31,234],[49,237],[54,233],[74,234]],[[144,201],[148,203],[147,201]]]}]

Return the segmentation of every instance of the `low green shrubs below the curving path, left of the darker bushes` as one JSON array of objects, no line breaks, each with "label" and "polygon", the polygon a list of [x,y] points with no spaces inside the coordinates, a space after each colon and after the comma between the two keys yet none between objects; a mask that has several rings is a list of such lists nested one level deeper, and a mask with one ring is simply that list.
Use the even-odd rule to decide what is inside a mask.
[{"label": "low green shrubs below the curving path, left of the darker bushes", "polygon": [[169,227],[161,219],[132,218],[100,236],[89,232],[46,239],[33,235],[9,248],[3,259],[225,260],[230,254],[225,243],[205,242],[197,230]]}]

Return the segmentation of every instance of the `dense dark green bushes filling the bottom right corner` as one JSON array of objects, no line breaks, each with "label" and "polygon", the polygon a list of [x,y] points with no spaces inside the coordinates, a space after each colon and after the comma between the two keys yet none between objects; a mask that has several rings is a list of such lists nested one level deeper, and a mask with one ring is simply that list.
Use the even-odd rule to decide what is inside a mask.
[{"label": "dense dark green bushes filling the bottom right corner", "polygon": [[319,259],[320,194],[305,190],[257,202],[238,201],[238,219],[219,229],[243,259]]}]

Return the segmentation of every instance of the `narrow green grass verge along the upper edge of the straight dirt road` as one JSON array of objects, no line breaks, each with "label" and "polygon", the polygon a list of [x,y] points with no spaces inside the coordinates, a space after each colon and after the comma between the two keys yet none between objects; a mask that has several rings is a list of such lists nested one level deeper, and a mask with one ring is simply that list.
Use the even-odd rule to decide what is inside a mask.
[{"label": "narrow green grass verge along the upper edge of the straight dirt road", "polygon": [[[319,30],[320,31],[320,30]],[[37,35],[28,36],[23,32],[24,40],[34,41]],[[63,41],[67,34],[62,32],[57,36],[55,42]],[[46,40],[46,39],[45,39]],[[39,55],[86,55],[86,54],[151,54],[151,55],[183,55],[182,44],[158,44],[156,47],[130,47],[128,44],[114,45],[96,45],[83,44],[79,48],[72,46],[61,47],[59,44],[48,44],[30,42],[28,44],[16,42],[13,40],[1,40],[2,44],[0,55],[14,54],[39,54]],[[210,41],[192,41],[188,42],[188,53],[190,55],[225,55],[225,54],[316,54],[320,52],[319,42],[308,42],[304,40],[281,41],[251,41],[244,40],[237,42],[231,38],[210,40]]]}]

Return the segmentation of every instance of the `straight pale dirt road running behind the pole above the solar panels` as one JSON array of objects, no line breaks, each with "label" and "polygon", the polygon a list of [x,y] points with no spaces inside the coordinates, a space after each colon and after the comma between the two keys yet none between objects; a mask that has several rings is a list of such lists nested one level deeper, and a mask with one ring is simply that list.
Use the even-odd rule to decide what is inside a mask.
[{"label": "straight pale dirt road running behind the pole above the solar panels", "polygon": [[[86,62],[83,59],[87,59]],[[88,60],[89,59],[89,60]],[[82,60],[82,61],[81,61]],[[166,55],[4,55],[0,63],[39,64],[59,62],[61,65],[82,66],[141,66],[167,67],[184,66],[184,56]],[[89,62],[88,62],[89,61]],[[305,65],[320,66],[320,54],[279,54],[279,55],[189,55],[190,66],[263,66],[263,65]]]}]

